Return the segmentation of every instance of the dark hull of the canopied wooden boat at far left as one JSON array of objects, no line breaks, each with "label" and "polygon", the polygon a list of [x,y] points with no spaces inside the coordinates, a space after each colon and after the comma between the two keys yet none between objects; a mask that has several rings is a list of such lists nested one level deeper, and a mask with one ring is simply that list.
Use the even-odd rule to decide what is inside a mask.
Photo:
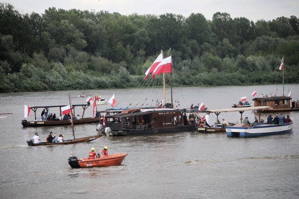
[{"label": "dark hull of the canopied wooden boat at far left", "polygon": [[[74,119],[73,124],[85,124],[99,122],[99,117],[87,117],[83,119]],[[28,121],[22,120],[23,127],[40,127],[40,126],[56,126],[56,125],[70,125],[70,120],[54,120],[54,121]]]}]

